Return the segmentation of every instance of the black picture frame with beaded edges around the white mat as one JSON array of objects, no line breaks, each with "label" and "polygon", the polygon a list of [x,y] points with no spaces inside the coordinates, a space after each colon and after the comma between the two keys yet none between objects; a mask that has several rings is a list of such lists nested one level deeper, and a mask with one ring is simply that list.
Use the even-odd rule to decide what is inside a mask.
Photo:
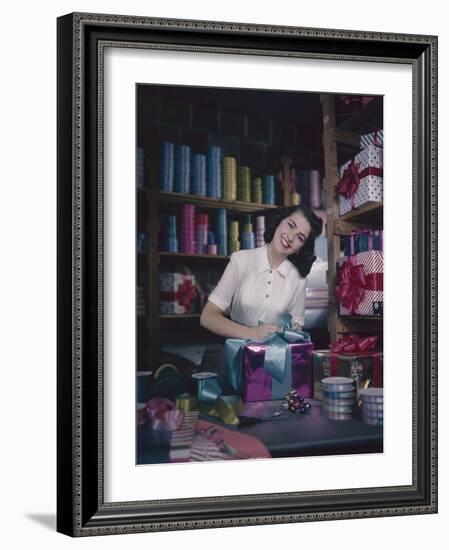
[{"label": "black picture frame with beaded edges around the white mat", "polygon": [[[205,484],[201,496],[180,486],[176,498],[161,498],[150,483],[140,500],[105,497],[107,48],[411,68],[412,262],[404,267],[413,313],[410,484],[266,492],[261,480],[258,492],[208,493]],[[436,513],[437,37],[75,13],[58,19],[57,69],[58,531],[90,536]]]}]

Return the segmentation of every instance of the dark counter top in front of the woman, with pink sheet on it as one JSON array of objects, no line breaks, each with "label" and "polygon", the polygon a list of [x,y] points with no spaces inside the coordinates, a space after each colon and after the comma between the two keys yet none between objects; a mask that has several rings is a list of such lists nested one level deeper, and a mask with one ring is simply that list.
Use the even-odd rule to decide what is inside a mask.
[{"label": "dark counter top in front of the woman, with pink sheet on it", "polygon": [[[351,420],[330,420],[322,411],[321,401],[309,401],[311,409],[306,414],[283,411],[275,417],[272,415],[281,410],[282,401],[246,403],[242,416],[267,419],[243,426],[226,425],[218,418],[196,412],[192,419],[192,430],[193,425],[201,426],[203,447],[212,437],[215,437],[215,442],[223,442],[223,440],[230,442],[221,446],[224,451],[221,455],[205,457],[206,451],[202,449],[201,459],[268,458],[270,456],[276,458],[383,452],[382,425],[364,424],[356,414]],[[153,430],[151,423],[146,420],[137,427],[137,463],[154,464],[192,460],[191,449],[189,449],[191,439],[181,435],[181,440],[183,452],[173,454],[172,432]]]}]

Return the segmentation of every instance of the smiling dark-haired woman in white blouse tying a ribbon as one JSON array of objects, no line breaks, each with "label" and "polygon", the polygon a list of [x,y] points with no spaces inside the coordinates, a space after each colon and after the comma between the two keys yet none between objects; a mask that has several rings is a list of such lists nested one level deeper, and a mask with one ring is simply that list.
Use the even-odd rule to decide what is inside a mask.
[{"label": "smiling dark-haired woman in white blouse tying a ribbon", "polygon": [[265,339],[279,329],[280,316],[289,313],[294,328],[301,330],[306,277],[321,231],[322,220],[310,208],[279,208],[264,246],[231,255],[203,309],[201,325],[225,338]]}]

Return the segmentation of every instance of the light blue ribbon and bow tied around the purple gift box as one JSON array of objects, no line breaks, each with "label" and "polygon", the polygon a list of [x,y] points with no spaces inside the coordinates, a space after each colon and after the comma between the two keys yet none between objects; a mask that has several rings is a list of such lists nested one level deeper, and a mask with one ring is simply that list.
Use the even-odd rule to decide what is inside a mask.
[{"label": "light blue ribbon and bow tied around the purple gift box", "polygon": [[[259,325],[263,323],[259,322]],[[310,342],[308,332],[292,330],[293,319],[290,314],[281,315],[278,325],[280,332],[265,340],[242,340],[228,338],[225,342],[225,357],[228,379],[235,391],[242,391],[242,354],[247,344],[265,344],[264,370],[274,381],[282,384],[286,374],[291,373],[291,349],[289,344]]]}]

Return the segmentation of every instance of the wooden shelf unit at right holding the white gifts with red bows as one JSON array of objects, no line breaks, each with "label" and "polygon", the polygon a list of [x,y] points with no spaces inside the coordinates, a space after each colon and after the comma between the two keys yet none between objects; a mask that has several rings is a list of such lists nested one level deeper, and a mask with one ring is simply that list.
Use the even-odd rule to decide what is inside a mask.
[{"label": "wooden shelf unit at right holding the white gifts with red bows", "polygon": [[341,145],[358,146],[361,134],[382,127],[381,98],[374,98],[346,120],[337,124],[335,113],[335,96],[321,95],[323,112],[323,150],[328,239],[328,272],[329,285],[329,332],[331,342],[341,335],[350,332],[379,332],[383,317],[370,316],[339,316],[338,303],[334,297],[336,286],[336,265],[340,257],[340,236],[351,233],[354,229],[383,227],[383,203],[364,205],[340,216],[337,185],[339,182],[338,152]]}]

